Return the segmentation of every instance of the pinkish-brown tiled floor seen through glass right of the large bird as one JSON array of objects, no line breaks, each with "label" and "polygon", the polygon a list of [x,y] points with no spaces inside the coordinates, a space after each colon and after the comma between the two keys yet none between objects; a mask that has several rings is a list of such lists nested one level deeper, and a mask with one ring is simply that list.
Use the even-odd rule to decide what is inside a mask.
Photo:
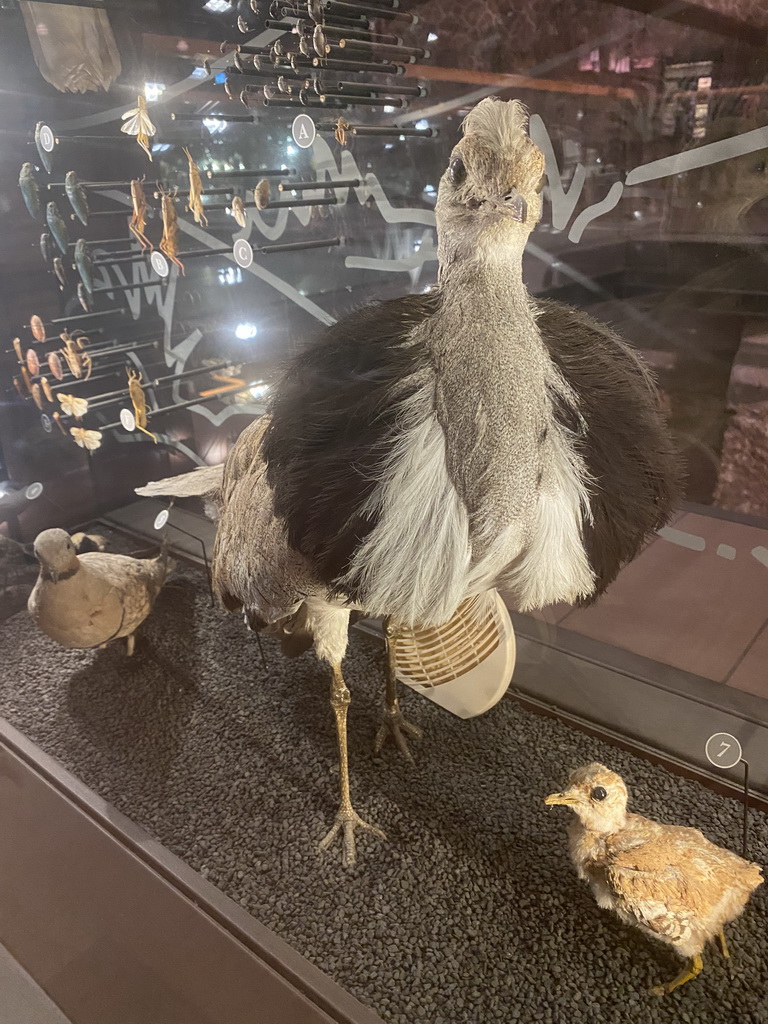
[{"label": "pinkish-brown tiled floor seen through glass right of the large bird", "polygon": [[768,698],[768,530],[687,513],[594,607],[537,617]]}]

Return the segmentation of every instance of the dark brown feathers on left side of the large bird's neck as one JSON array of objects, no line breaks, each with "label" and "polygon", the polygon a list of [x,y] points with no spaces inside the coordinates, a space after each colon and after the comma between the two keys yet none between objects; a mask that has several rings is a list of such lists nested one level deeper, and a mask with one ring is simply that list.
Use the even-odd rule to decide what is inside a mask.
[{"label": "dark brown feathers on left side of the large bird's neck", "polygon": [[427,358],[409,337],[437,302],[411,295],[350,313],[292,360],[275,389],[262,447],[274,511],[328,585],[376,525],[361,510],[395,433],[397,406]]}]

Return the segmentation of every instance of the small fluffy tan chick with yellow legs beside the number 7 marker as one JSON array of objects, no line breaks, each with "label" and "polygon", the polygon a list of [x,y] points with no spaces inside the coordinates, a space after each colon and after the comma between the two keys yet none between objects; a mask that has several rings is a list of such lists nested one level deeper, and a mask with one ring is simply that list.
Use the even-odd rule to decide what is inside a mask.
[{"label": "small fluffy tan chick with yellow legs beside the number 7 marker", "polygon": [[743,910],[762,883],[761,868],[715,846],[697,828],[662,825],[627,811],[627,786],[604,765],[579,768],[568,788],[547,797],[565,804],[577,821],[568,827],[570,858],[598,906],[671,945],[688,966],[656,995],[672,992],[701,971],[707,942]]}]

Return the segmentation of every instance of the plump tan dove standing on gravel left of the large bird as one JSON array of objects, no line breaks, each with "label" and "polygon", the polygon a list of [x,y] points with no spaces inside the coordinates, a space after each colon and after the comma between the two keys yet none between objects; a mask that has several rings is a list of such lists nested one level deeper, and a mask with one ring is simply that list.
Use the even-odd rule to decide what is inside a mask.
[{"label": "plump tan dove standing on gravel left of the large bird", "polygon": [[78,555],[63,529],[45,529],[35,540],[40,574],[28,609],[46,636],[62,647],[103,647],[134,634],[152,610],[173,567],[165,551],[131,558],[99,551]]}]

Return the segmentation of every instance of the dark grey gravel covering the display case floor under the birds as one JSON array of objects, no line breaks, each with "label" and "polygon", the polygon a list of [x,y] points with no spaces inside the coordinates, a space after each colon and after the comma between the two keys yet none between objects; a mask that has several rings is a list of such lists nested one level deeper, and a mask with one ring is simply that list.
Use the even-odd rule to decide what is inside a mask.
[{"label": "dark grey gravel covering the display case floor under the birds", "polygon": [[[768,1022],[768,886],[730,929],[732,958],[658,999],[679,962],[599,910],[546,808],[575,766],[621,772],[634,807],[738,848],[739,807],[506,699],[462,722],[409,693],[416,763],[371,751],[382,657],[353,639],[352,796],[387,843],[353,870],[316,844],[336,810],[324,669],[268,669],[237,616],[176,575],[136,655],[63,651],[25,612],[0,628],[0,714],[297,950],[397,1024]],[[755,814],[751,854],[768,860]]]}]

